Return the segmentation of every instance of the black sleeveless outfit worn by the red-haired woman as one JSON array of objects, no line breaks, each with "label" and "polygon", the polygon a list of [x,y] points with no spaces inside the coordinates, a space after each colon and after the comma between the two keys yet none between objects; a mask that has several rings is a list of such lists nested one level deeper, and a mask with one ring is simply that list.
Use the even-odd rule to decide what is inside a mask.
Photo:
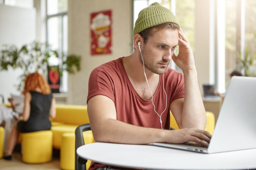
[{"label": "black sleeveless outfit worn by the red-haired woman", "polygon": [[23,133],[36,132],[40,130],[50,130],[49,111],[51,107],[52,94],[43,95],[42,93],[31,91],[30,115],[26,122],[22,123]]}]

